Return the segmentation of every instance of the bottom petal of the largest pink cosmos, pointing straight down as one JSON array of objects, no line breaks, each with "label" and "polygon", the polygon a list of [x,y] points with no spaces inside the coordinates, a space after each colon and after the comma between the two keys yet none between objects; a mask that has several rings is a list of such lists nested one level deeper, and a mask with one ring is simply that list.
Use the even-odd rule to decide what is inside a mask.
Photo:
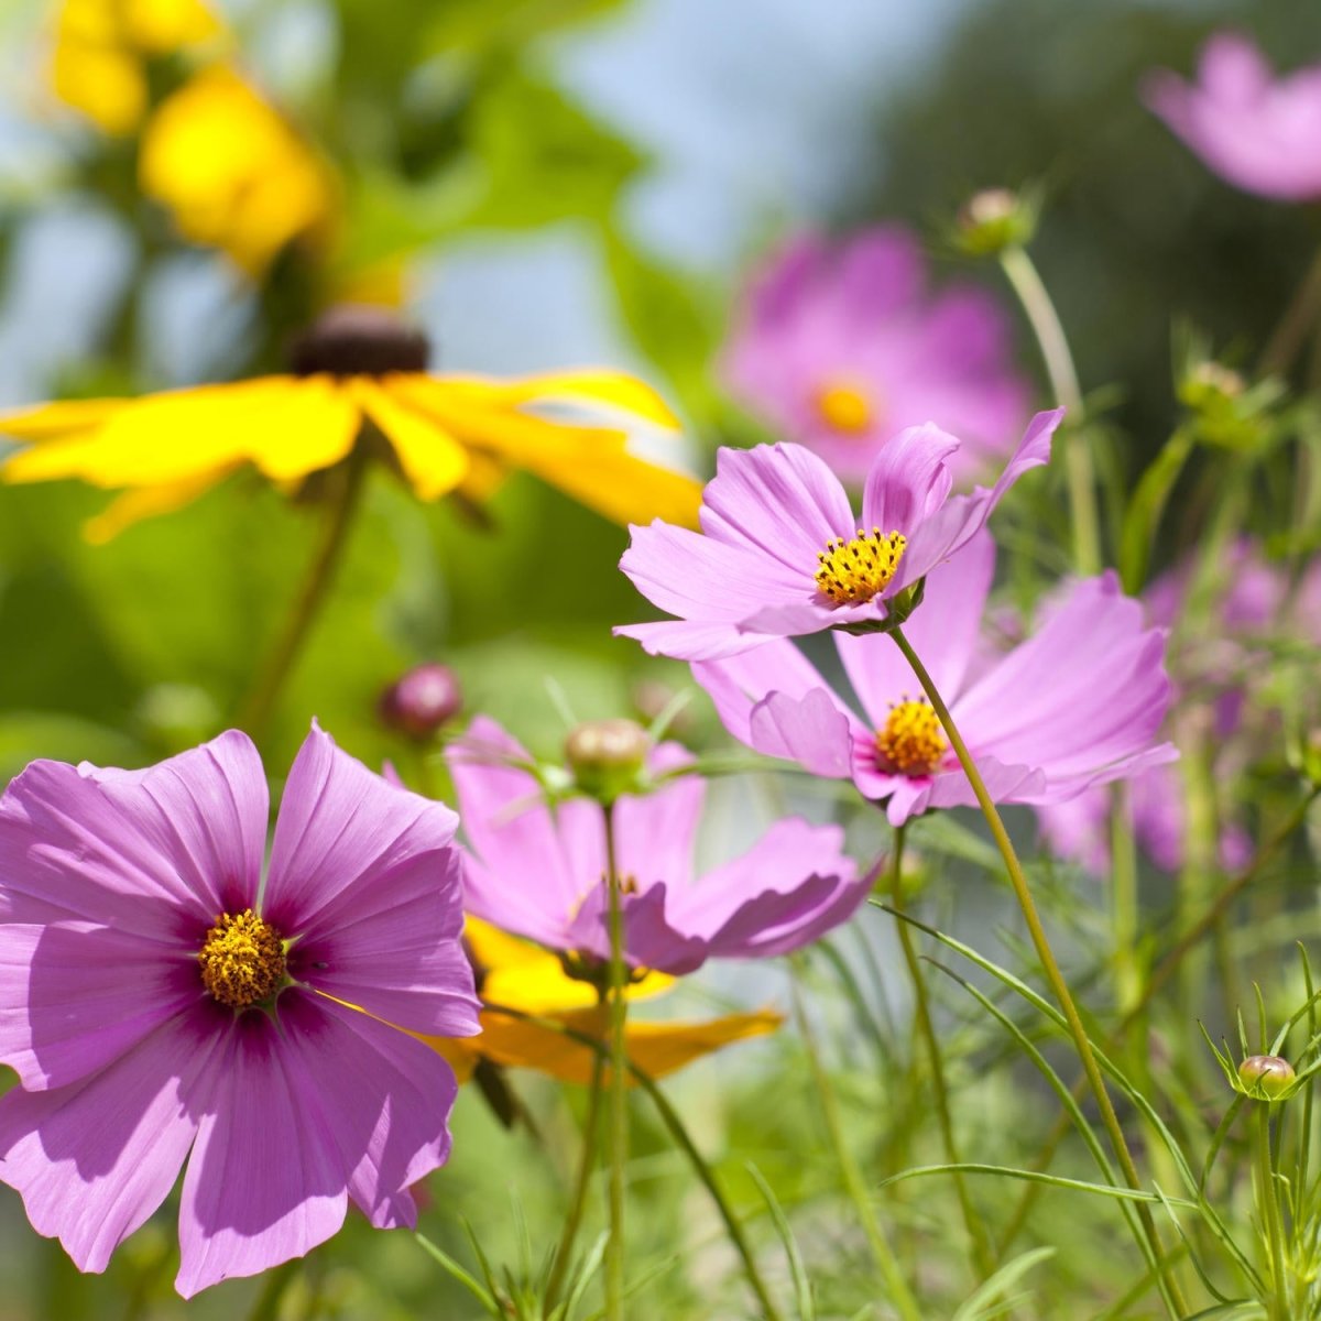
[{"label": "bottom petal of the largest pink cosmos, pointing straight down", "polygon": [[303,1256],[343,1223],[347,1172],[295,1058],[264,1013],[239,1015],[219,1042],[184,1174],[174,1287],[185,1299]]}]

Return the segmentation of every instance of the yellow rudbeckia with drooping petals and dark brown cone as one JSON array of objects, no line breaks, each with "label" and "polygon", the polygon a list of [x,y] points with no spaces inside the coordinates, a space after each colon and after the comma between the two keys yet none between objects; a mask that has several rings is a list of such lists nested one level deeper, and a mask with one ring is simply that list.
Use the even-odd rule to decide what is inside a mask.
[{"label": "yellow rudbeckia with drooping petals and dark brown cone", "polygon": [[621,523],[696,524],[695,478],[634,457],[618,429],[528,411],[596,404],[676,427],[642,382],[616,371],[515,380],[432,375],[427,357],[425,336],[391,313],[343,305],[297,341],[287,375],[0,416],[0,435],[29,443],[0,466],[0,477],[79,478],[123,490],[89,523],[91,540],[180,509],[242,468],[296,487],[355,446],[386,458],[425,501],[456,490],[483,498],[506,473],[524,469]]}]

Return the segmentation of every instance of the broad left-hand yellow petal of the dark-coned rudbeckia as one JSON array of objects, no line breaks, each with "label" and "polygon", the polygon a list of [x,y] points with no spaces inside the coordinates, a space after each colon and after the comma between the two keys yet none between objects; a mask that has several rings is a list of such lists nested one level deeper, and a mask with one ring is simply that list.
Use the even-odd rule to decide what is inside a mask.
[{"label": "broad left-hand yellow petal of the dark-coned rudbeckia", "polygon": [[291,480],[343,458],[359,421],[354,400],[329,378],[199,386],[128,400],[99,427],[21,450],[3,476],[12,482],[78,477],[108,487],[205,485],[247,461],[272,480]]}]

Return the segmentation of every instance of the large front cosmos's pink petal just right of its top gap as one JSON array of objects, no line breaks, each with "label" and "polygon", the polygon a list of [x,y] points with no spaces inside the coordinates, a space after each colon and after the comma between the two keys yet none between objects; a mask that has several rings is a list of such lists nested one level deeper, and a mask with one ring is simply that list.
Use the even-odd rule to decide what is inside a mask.
[{"label": "large front cosmos's pink petal just right of its top gap", "polygon": [[367,770],[313,723],[284,786],[263,917],[291,937],[419,855],[443,867],[457,824],[443,803]]}]

